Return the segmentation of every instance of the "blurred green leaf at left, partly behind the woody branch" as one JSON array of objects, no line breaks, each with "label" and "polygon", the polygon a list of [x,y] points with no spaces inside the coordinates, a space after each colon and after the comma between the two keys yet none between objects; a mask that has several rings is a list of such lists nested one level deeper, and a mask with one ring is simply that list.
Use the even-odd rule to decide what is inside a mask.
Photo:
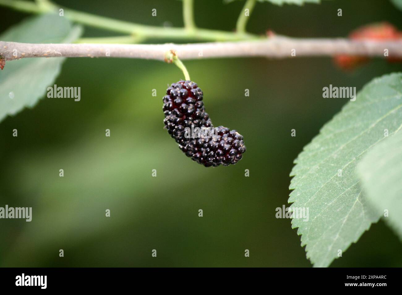
[{"label": "blurred green leaf at left, partly behind the woody branch", "polygon": [[[29,18],[0,35],[1,41],[71,43],[81,34],[63,16],[45,14]],[[60,73],[64,58],[27,58],[6,61],[0,72],[0,121],[24,107],[32,108]]]}]

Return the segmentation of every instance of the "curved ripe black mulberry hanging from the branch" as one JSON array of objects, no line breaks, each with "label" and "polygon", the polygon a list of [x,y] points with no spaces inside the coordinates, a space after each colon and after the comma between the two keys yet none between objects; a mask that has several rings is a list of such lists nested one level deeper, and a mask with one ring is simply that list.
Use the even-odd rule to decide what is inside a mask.
[{"label": "curved ripe black mulberry hanging from the branch", "polygon": [[[213,127],[196,83],[180,80],[172,83],[166,94],[164,128],[187,157],[205,167],[228,166],[242,159],[246,151],[243,136],[223,126]],[[197,128],[200,131],[195,131]]]}]

